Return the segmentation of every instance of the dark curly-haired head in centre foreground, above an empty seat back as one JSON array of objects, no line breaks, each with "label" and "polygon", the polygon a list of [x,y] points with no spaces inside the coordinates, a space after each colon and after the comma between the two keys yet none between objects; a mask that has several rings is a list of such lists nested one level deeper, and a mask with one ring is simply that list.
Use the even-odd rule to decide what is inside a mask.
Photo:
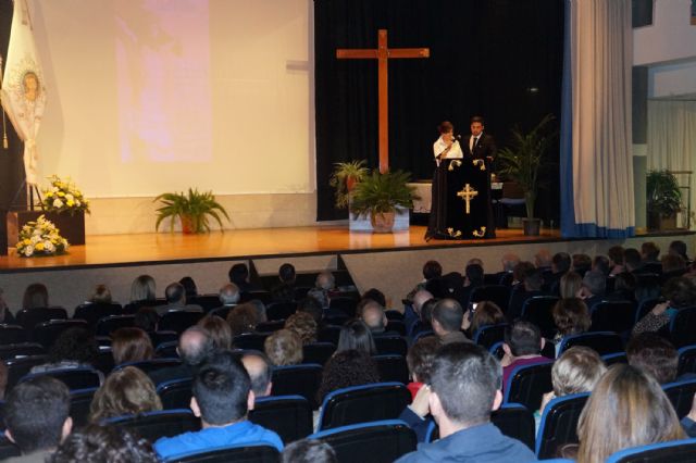
[{"label": "dark curly-haired head in centre foreground, above an empty seat back", "polygon": [[336,389],[372,383],[380,383],[380,371],[370,354],[358,350],[336,351],[324,365],[316,399],[321,403]]}]

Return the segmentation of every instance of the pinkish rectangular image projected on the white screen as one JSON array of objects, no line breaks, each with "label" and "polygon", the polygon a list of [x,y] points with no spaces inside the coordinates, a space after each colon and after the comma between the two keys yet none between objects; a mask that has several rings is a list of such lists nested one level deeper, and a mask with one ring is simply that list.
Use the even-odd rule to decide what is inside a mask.
[{"label": "pinkish rectangular image projected on the white screen", "polygon": [[208,2],[117,1],[113,8],[122,161],[210,161]]}]

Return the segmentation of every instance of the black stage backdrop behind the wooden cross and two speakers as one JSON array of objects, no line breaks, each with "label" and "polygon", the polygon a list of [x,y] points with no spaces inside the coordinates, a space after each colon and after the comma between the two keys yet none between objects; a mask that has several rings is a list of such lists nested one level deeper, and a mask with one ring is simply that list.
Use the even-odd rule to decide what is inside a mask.
[{"label": "black stage backdrop behind the wooden cross and two speakers", "polygon": [[[481,114],[500,147],[515,124],[560,114],[562,0],[314,0],[320,221],[347,216],[328,187],[335,162],[378,165],[376,60],[338,60],[336,49],[376,48],[380,28],[390,48],[431,49],[428,59],[389,60],[391,170],[431,178],[444,120],[465,136]],[[557,207],[540,203],[537,215],[557,216]]]}]

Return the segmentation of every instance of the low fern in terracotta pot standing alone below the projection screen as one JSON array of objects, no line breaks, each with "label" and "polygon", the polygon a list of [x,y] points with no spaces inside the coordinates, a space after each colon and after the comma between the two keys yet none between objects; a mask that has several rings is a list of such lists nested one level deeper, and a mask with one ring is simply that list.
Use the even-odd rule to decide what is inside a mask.
[{"label": "low fern in terracotta pot standing alone below the projection screen", "polygon": [[160,201],[162,205],[158,208],[156,229],[165,218],[171,218],[171,230],[174,232],[174,217],[182,221],[184,233],[210,232],[208,223],[209,216],[217,221],[222,228],[221,215],[229,220],[227,211],[217,201],[212,191],[198,192],[198,189],[188,189],[188,195],[184,192],[162,193],[154,198],[154,202]]}]

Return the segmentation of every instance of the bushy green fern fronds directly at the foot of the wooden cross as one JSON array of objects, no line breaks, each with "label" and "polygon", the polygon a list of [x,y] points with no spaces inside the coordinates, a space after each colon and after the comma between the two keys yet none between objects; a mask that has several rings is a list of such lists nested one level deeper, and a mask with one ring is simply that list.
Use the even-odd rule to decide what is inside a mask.
[{"label": "bushy green fern fronds directly at the foot of the wooden cross", "polygon": [[373,171],[362,182],[356,185],[352,192],[351,211],[358,215],[374,216],[394,212],[397,207],[411,208],[415,188],[408,185],[411,174],[408,172],[386,172],[381,174]]}]

